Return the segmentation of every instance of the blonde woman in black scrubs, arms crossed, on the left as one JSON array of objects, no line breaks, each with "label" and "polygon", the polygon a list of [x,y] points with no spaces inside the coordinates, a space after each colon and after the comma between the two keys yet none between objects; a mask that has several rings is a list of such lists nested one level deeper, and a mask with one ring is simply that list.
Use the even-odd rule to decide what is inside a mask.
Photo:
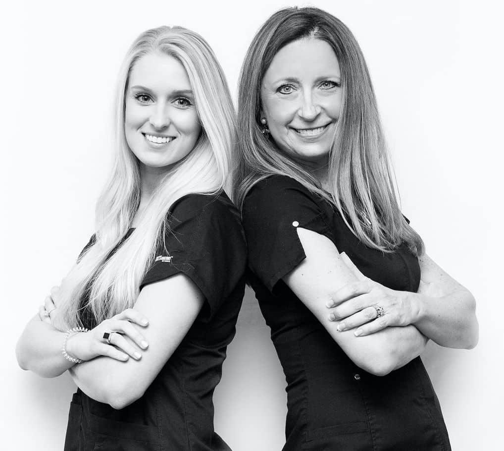
[{"label": "blonde woman in black scrubs, arms crossed, on the left", "polygon": [[116,153],[96,233],[17,346],[78,390],[65,449],[229,449],[212,396],[244,290],[245,242],[224,189],[235,119],[215,55],[148,30],[118,77]]}]

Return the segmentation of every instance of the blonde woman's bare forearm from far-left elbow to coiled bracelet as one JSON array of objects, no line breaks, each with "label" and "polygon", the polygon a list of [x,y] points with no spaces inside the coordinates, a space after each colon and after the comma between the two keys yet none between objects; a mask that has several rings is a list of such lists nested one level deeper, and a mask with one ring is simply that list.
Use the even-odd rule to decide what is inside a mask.
[{"label": "blonde woman's bare forearm from far-left elbow to coiled bracelet", "polygon": [[16,345],[19,366],[42,377],[56,377],[67,371],[75,364],[61,353],[65,335],[38,317],[32,319]]}]

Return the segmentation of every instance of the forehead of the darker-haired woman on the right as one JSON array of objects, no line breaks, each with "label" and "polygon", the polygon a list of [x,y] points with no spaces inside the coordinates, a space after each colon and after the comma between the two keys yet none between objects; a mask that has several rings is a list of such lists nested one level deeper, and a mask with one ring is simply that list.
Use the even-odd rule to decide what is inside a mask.
[{"label": "forehead of the darker-haired woman on the right", "polygon": [[321,39],[303,38],[288,43],[273,57],[265,81],[295,77],[301,80],[340,76],[340,66],[332,47]]}]

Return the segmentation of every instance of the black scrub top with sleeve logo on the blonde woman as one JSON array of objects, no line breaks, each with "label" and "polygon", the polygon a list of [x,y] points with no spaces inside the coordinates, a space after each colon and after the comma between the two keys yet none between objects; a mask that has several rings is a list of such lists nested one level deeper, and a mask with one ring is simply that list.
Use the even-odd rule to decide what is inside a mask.
[{"label": "black scrub top with sleeve logo on the blonde woman", "polygon": [[[239,213],[224,193],[186,195],[170,213],[171,230],[141,288],[180,272],[204,294],[203,308],[139,400],[115,410],[77,390],[65,450],[230,449],[214,432],[212,397],[245,286],[246,247]],[[94,325],[89,316],[83,319],[88,327]]]}]

